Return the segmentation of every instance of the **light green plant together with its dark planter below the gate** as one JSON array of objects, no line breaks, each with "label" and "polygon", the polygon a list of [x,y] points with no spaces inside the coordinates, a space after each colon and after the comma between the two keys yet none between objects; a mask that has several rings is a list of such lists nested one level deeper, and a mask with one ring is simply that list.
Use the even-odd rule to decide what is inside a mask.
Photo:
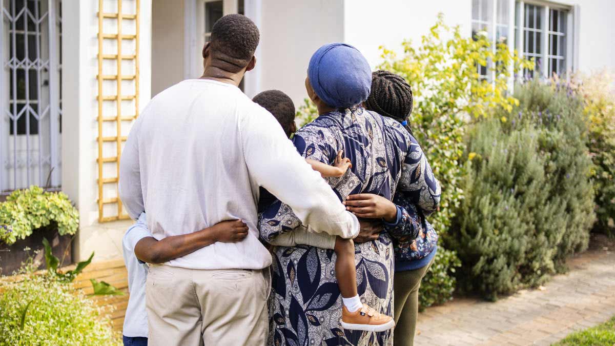
[{"label": "light green plant together with its dark planter below the gate", "polygon": [[78,227],[79,212],[64,193],[37,186],[13,191],[0,203],[0,273],[12,274],[37,250],[34,262],[45,267],[43,238],[51,239],[60,265],[71,264],[71,235]]}]

